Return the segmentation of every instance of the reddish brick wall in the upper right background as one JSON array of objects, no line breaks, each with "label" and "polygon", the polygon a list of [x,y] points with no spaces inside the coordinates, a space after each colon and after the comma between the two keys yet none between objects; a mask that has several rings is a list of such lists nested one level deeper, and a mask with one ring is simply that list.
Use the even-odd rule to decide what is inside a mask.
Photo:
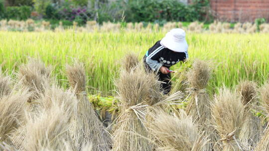
[{"label": "reddish brick wall in the upper right background", "polygon": [[269,21],[269,0],[210,0],[212,14],[221,21]]}]

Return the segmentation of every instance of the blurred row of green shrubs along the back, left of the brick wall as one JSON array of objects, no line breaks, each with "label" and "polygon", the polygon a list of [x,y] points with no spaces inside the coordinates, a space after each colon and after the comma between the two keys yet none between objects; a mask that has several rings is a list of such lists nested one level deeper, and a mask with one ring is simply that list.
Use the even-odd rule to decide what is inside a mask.
[{"label": "blurred row of green shrubs along the back, left of the brick wall", "polygon": [[[179,0],[10,0],[12,5],[32,5],[36,19],[56,19],[76,21],[79,24],[97,19],[103,22],[154,22],[160,25],[167,21],[205,21],[208,20],[209,1],[193,0],[185,5]],[[8,7],[0,17],[7,19],[26,19],[29,6]],[[4,9],[1,7],[0,12]],[[25,12],[21,12],[25,11]],[[97,16],[98,15],[98,16]]]}]

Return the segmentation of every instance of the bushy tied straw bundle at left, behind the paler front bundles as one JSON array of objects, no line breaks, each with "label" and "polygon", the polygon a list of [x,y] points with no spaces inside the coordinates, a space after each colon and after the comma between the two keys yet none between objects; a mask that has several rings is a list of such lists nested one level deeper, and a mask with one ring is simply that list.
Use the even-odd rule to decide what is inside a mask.
[{"label": "bushy tied straw bundle at left, behind the paler front bundles", "polygon": [[[44,63],[41,61],[34,59],[30,59],[27,64],[21,65],[18,69],[16,76],[19,82],[17,85],[19,89],[27,91],[30,94],[27,102],[23,102],[25,104],[23,106],[33,118],[40,113],[38,102],[36,100],[40,98],[45,89],[49,87],[50,82],[52,82],[50,77],[51,69],[51,67],[45,67]],[[23,132],[25,119],[20,122],[21,126],[12,135],[12,143],[17,150],[22,151],[24,150],[22,144],[25,140],[25,132]]]}]

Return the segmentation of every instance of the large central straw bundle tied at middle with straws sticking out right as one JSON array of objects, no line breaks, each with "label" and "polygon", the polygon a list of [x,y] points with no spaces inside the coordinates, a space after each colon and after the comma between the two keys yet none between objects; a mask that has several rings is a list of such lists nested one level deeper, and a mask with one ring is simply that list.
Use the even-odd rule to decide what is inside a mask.
[{"label": "large central straw bundle tied at middle with straws sticking out right", "polygon": [[122,71],[116,80],[120,115],[113,128],[113,151],[152,150],[153,144],[147,139],[148,133],[142,122],[145,106],[155,104],[151,96],[152,82],[156,82],[155,77],[138,67],[130,72]]}]

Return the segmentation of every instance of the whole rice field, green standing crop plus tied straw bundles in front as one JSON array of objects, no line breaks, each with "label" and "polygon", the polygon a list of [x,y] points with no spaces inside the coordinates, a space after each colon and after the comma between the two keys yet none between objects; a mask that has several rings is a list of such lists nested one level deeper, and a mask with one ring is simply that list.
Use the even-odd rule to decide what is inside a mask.
[{"label": "whole rice field, green standing crop plus tied straw bundles in front", "polygon": [[0,151],[268,151],[268,34],[188,33],[168,95],[139,65],[164,34],[0,31]]}]

